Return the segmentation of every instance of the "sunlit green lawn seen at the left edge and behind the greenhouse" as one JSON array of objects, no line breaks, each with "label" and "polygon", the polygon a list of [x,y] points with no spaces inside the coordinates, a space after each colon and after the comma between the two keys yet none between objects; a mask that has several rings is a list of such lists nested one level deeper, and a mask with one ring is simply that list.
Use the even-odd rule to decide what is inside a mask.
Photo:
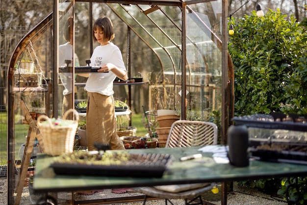
[{"label": "sunlit green lawn seen at the left edge and behind the greenhouse", "polygon": [[[21,122],[21,117],[16,115],[15,122]],[[131,126],[136,127],[136,135],[137,136],[145,136],[148,133],[148,130],[145,128],[142,122],[142,114],[133,114],[131,119]],[[26,142],[26,135],[28,130],[28,125],[24,124],[16,124],[15,125],[15,158],[20,159],[20,147],[22,144]],[[0,137],[1,137],[1,165],[5,165],[7,161],[7,139],[6,139],[6,128],[7,128],[7,115],[6,112],[0,113]]]}]

